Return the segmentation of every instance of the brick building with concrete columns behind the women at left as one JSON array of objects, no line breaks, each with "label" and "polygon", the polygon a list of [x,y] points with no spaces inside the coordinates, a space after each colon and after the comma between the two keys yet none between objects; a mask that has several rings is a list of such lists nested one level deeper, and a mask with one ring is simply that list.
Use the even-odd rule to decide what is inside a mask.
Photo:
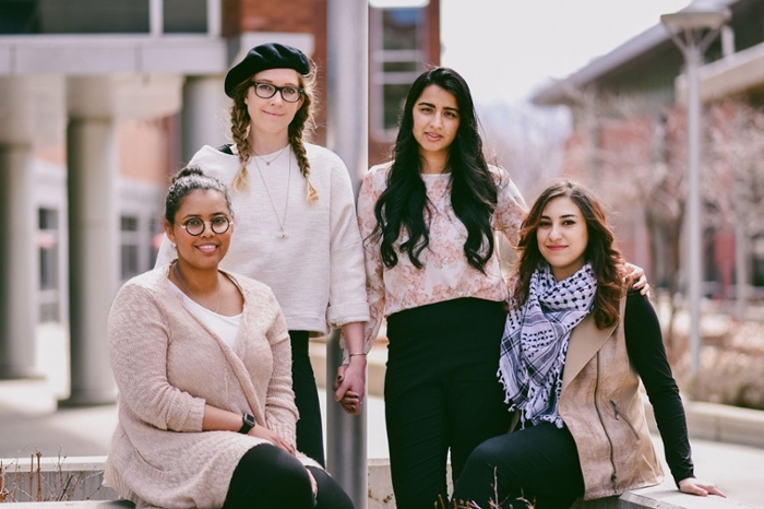
[{"label": "brick building with concrete columns behind the women at left", "polygon": [[[120,284],[153,267],[168,176],[227,141],[223,80],[258,44],[311,56],[325,106],[327,1],[0,0],[0,378],[38,375],[36,327],[60,322],[65,403],[115,400],[106,317]],[[372,111],[394,110],[406,80],[438,63],[438,1],[370,10]],[[377,155],[392,123],[375,115]]]}]

